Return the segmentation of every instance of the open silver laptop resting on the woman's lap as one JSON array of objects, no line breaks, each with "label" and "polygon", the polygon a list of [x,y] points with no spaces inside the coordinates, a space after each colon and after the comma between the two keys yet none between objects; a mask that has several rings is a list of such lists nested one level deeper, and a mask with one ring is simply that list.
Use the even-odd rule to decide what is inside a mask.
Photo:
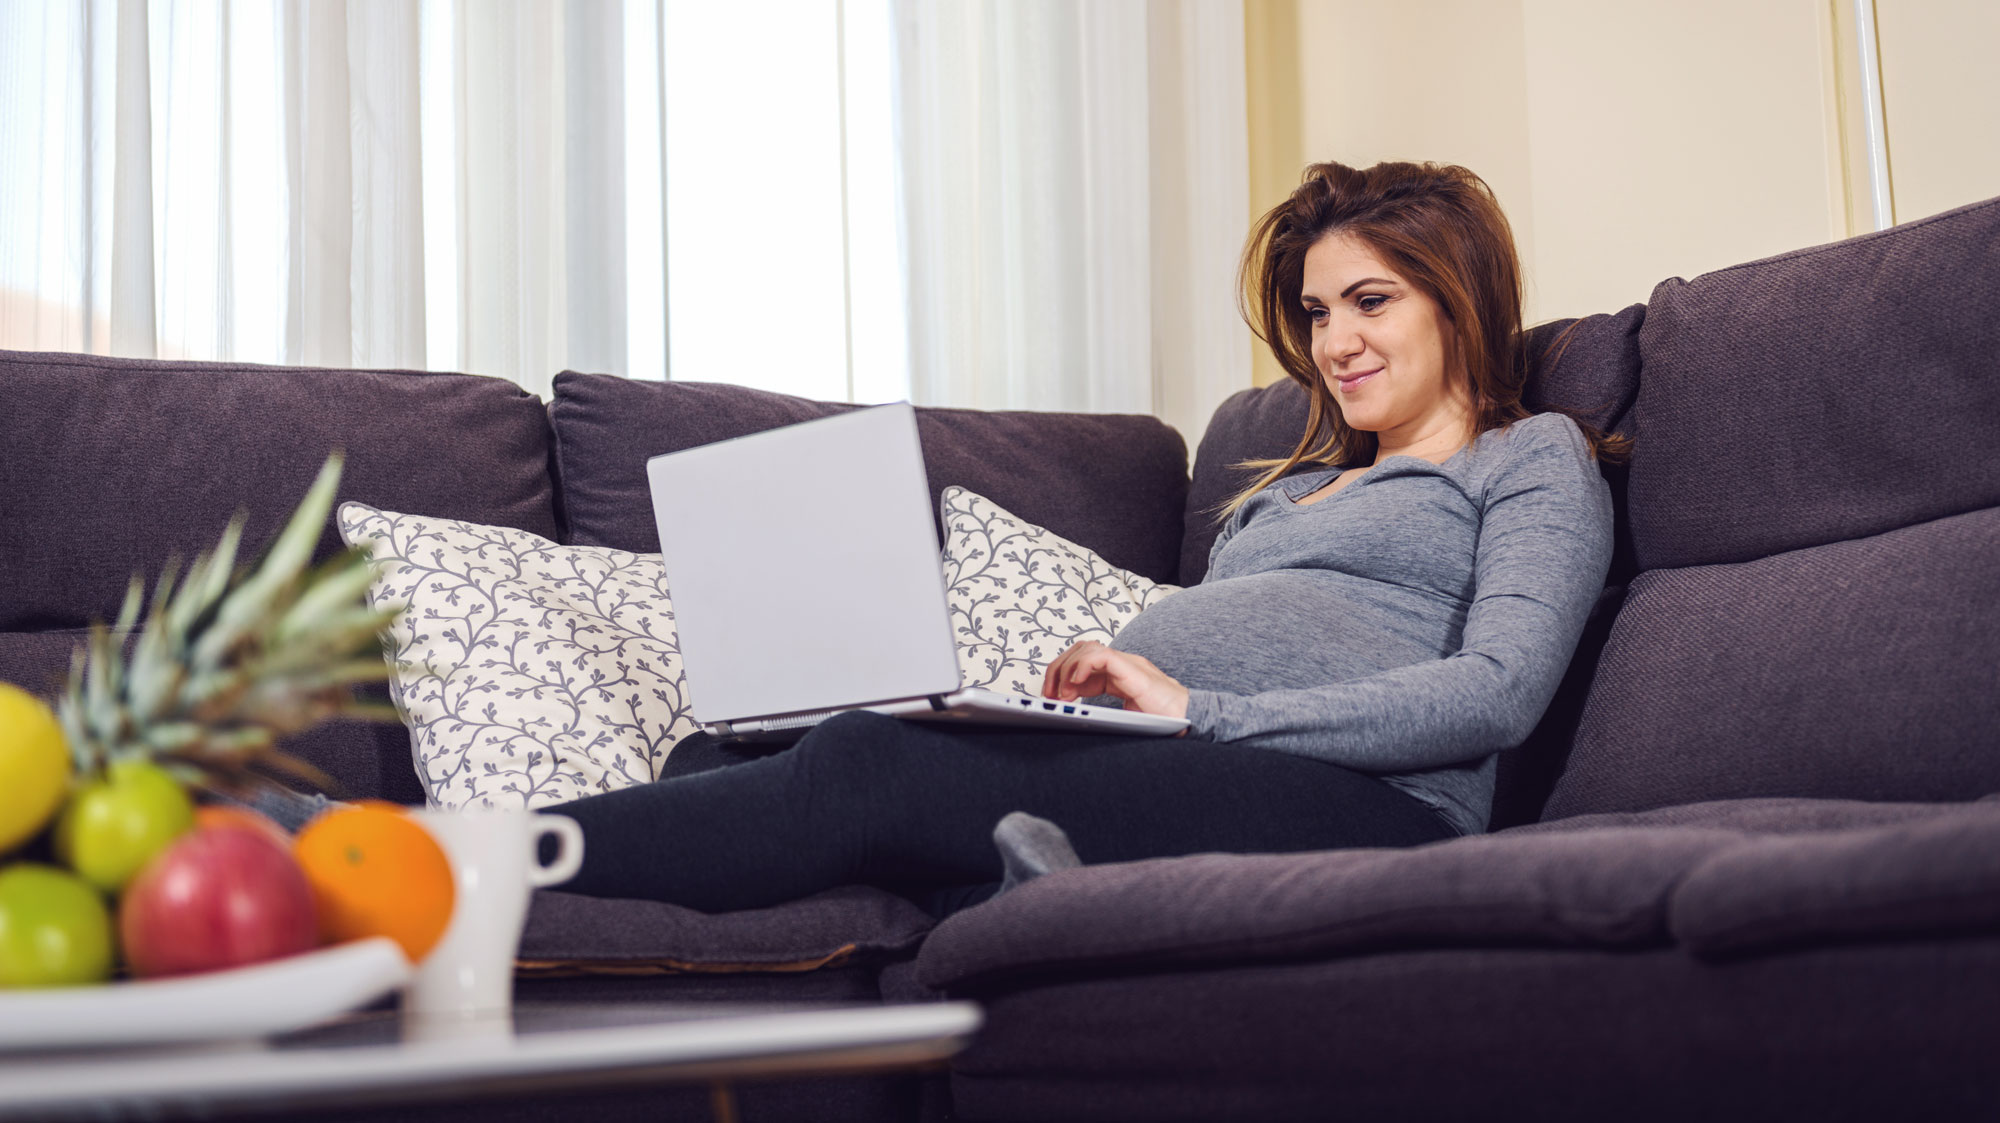
[{"label": "open silver laptop resting on the woman's lap", "polygon": [[1172,735],[1186,719],[962,687],[908,404],[646,462],[694,719],[786,739],[846,709]]}]

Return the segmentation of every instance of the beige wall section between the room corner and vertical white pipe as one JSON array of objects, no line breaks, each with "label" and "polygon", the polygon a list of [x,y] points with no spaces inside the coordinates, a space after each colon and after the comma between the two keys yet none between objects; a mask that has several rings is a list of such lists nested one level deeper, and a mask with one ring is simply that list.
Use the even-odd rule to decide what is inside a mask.
[{"label": "beige wall section between the room corner and vertical white pipe", "polygon": [[1522,0],[1528,320],[1846,234],[1826,0]]}]

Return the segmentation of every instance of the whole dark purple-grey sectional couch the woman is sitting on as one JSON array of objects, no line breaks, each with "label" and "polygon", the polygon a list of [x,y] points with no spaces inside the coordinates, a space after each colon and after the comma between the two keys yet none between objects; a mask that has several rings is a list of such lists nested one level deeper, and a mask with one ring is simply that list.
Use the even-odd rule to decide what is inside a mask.
[{"label": "whole dark purple-grey sectional couch the woman is sitting on", "polygon": [[[2000,1117],[2000,200],[1530,344],[1530,406],[1638,444],[1492,835],[1096,865],[936,927],[862,887],[724,917],[542,893],[522,993],[988,1011],[948,1089],[774,1087],[752,1117]],[[652,550],[648,454],[836,410],[582,374],[546,408],[436,374],[0,354],[0,677],[30,685],[134,567],[238,504],[274,530],[330,446],[346,498]],[[1238,394],[1192,482],[1146,418],[922,426],[934,490],[1188,583],[1232,466],[1302,416],[1296,388]],[[422,797],[400,729],[296,749]]]}]

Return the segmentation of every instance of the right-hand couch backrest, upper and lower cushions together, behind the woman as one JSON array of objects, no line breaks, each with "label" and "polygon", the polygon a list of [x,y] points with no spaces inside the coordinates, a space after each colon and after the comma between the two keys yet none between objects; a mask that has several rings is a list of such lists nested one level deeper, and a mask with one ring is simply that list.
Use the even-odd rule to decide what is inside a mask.
[{"label": "right-hand couch backrest, upper and lower cushions together, behind the woman", "polygon": [[2000,200],[1670,280],[1550,817],[2000,789]]}]

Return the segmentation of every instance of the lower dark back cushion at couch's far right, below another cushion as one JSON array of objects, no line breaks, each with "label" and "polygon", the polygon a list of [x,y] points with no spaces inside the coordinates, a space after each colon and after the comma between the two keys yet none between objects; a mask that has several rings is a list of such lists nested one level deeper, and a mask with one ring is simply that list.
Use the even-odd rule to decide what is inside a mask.
[{"label": "lower dark back cushion at couch's far right, below another cushion", "polygon": [[2000,791],[2000,508],[1632,581],[1546,815]]}]

